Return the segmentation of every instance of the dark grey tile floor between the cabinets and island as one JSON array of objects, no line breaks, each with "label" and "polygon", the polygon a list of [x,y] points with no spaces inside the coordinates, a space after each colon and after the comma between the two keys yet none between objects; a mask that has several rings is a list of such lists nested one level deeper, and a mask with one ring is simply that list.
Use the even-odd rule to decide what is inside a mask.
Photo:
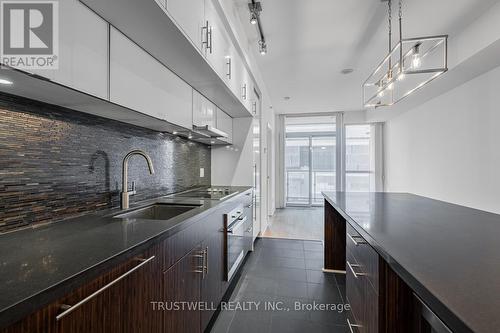
[{"label": "dark grey tile floor between the cabinets and island", "polygon": [[[314,302],[345,303],[345,276],[325,274],[322,266],[323,246],[319,241],[259,239],[229,299],[260,302],[258,309],[223,310],[211,332],[348,332],[345,311],[295,307],[296,302],[304,307]],[[265,309],[265,304],[281,310]]]}]

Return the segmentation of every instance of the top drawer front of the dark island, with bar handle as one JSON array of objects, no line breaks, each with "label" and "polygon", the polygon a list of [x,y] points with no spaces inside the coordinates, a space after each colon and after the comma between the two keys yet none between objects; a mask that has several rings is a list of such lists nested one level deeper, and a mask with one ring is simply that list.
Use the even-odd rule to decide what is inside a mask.
[{"label": "top drawer front of the dark island, with bar handle", "polygon": [[[377,252],[361,237],[361,235],[349,224],[346,228],[346,256],[355,261],[356,272],[370,283],[378,294],[379,291],[379,256]],[[346,268],[348,270],[349,267]]]}]

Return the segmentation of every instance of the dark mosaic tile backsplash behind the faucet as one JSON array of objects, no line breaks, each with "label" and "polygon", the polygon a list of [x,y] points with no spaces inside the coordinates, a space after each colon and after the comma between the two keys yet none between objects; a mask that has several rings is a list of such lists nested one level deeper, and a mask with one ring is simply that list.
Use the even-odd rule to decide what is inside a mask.
[{"label": "dark mosaic tile backsplash behind the faucet", "polygon": [[[120,204],[123,157],[131,202],[210,185],[210,148],[169,134],[0,94],[0,232]],[[200,178],[200,167],[205,177]]]}]

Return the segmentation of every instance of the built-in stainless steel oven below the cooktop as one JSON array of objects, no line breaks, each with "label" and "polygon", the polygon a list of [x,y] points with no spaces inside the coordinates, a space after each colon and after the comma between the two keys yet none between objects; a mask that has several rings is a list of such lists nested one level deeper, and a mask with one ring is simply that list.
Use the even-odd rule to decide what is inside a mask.
[{"label": "built-in stainless steel oven below the cooktop", "polygon": [[238,206],[224,214],[224,276],[231,280],[245,255],[252,248],[253,221],[244,213],[243,206]]}]

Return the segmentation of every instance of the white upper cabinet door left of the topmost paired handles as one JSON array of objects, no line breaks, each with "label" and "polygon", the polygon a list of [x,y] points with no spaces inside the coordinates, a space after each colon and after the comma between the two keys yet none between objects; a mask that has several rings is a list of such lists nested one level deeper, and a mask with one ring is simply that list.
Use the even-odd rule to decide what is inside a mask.
[{"label": "white upper cabinet door left of the topmost paired handles", "polygon": [[175,22],[191,39],[198,49],[202,49],[202,38],[206,31],[204,0],[168,0],[167,10]]}]

